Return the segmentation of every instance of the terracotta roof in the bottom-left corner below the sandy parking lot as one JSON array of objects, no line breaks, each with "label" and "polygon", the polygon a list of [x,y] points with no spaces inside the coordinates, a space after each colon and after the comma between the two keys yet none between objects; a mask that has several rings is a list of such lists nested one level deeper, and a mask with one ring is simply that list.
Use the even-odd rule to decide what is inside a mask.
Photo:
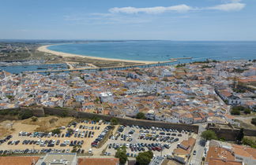
[{"label": "terracotta roof in the bottom-left corner below the sandy parking lot", "polygon": [[1,156],[0,165],[32,165],[40,159],[39,156]]}]

